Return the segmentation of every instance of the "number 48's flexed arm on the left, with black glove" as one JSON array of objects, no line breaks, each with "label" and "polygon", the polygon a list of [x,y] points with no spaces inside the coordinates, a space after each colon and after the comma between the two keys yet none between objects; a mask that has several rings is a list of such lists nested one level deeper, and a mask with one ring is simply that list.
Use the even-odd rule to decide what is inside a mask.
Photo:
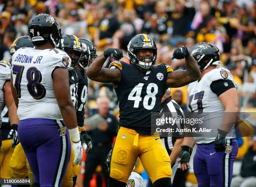
[{"label": "number 48's flexed arm on the left, with black glove", "polygon": [[121,74],[118,69],[102,68],[104,62],[108,57],[114,57],[119,60],[123,57],[123,53],[119,49],[109,48],[97,57],[86,71],[86,75],[91,79],[98,82],[112,82],[118,85],[121,80]]}]

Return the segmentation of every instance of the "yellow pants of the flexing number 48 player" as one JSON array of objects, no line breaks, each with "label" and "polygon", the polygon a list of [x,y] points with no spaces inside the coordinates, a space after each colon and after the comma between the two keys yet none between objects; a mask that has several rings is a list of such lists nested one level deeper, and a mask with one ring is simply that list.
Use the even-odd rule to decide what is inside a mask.
[{"label": "yellow pants of the flexing number 48 player", "polygon": [[127,182],[137,157],[152,183],[172,177],[170,157],[159,136],[140,135],[135,130],[120,127],[110,162],[110,177]]}]

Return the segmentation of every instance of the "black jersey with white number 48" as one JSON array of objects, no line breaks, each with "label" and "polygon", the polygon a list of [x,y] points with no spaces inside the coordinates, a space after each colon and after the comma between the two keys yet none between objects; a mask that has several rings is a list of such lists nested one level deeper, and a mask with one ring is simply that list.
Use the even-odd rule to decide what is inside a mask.
[{"label": "black jersey with white number 48", "polygon": [[120,108],[119,125],[151,135],[151,112],[160,111],[167,74],[173,71],[172,68],[161,64],[142,72],[135,65],[121,61],[111,62],[111,68],[121,73],[120,83],[115,88]]}]

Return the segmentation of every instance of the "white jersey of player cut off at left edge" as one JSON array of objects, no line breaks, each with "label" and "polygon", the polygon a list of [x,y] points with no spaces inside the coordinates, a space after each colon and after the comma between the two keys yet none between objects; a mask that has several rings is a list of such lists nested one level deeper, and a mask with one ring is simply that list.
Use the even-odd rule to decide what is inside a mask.
[{"label": "white jersey of player cut off at left edge", "polygon": [[0,127],[2,124],[2,110],[5,102],[4,98],[4,84],[6,81],[10,80],[11,68],[4,62],[0,62]]}]

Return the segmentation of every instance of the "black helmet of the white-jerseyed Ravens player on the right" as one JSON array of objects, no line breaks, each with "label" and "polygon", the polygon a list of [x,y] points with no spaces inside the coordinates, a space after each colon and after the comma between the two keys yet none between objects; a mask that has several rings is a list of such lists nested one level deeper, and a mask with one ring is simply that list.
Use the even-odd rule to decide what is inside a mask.
[{"label": "black helmet of the white-jerseyed Ravens player on the right", "polygon": [[211,43],[201,42],[189,50],[189,53],[197,60],[200,71],[209,65],[220,65],[220,50]]}]

